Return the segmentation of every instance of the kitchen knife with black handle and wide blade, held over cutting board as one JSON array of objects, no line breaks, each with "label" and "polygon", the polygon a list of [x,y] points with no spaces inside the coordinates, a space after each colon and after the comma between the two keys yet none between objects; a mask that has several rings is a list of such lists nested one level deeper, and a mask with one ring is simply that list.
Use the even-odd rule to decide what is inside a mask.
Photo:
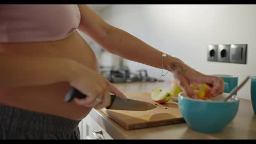
[{"label": "kitchen knife with black handle and wide blade, held over cutting board", "polygon": [[[115,95],[110,94],[111,96],[111,103],[106,109],[111,110],[128,110],[128,111],[146,111],[146,110],[152,110],[156,106],[144,101],[139,100],[133,100],[133,99],[121,99]],[[65,102],[69,103],[74,98],[86,98],[87,95],[79,92],[77,89],[72,87],[69,89],[65,96]]]}]

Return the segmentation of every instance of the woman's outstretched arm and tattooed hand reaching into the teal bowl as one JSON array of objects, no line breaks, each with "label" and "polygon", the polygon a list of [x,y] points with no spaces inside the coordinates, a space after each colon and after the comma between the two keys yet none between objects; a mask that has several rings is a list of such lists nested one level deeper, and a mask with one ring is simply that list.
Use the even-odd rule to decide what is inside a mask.
[{"label": "woman's outstretched arm and tattooed hand reaching into the teal bowl", "polygon": [[[87,5],[79,5],[81,22],[79,30],[89,35],[103,49],[114,55],[129,59],[155,68],[162,68],[162,53],[154,47],[144,43],[135,36],[109,25],[101,19]],[[194,94],[190,83],[208,83],[212,86],[211,94],[223,93],[222,79],[207,76],[190,68],[181,59],[167,56],[164,58],[164,69],[172,72],[179,86],[189,96]]]}]

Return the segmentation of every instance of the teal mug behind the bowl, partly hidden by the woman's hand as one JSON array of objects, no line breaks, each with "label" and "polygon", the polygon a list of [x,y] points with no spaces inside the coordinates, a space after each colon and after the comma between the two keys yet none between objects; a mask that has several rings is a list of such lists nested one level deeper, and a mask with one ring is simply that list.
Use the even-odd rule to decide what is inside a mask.
[{"label": "teal mug behind the bowl, partly hidden by the woman's hand", "polygon": [[217,76],[219,78],[222,78],[224,80],[224,82],[228,83],[228,90],[225,90],[225,93],[230,93],[232,91],[232,89],[234,89],[235,87],[237,87],[238,85],[238,76],[234,76],[234,75],[212,75],[212,76]]}]

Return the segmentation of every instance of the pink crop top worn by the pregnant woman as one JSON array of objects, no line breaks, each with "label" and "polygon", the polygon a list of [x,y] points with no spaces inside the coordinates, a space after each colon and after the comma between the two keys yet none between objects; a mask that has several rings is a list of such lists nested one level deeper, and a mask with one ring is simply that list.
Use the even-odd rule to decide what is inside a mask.
[{"label": "pink crop top worn by the pregnant woman", "polygon": [[77,31],[78,5],[0,5],[0,43],[54,41]]}]

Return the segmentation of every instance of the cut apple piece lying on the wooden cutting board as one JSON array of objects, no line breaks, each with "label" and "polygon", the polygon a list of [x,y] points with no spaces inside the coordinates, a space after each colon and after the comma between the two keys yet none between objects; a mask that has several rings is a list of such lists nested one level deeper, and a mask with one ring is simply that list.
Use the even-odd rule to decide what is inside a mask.
[{"label": "cut apple piece lying on the wooden cutting board", "polygon": [[151,93],[151,98],[159,104],[166,103],[172,97],[172,94],[162,90],[161,88],[155,87]]}]

